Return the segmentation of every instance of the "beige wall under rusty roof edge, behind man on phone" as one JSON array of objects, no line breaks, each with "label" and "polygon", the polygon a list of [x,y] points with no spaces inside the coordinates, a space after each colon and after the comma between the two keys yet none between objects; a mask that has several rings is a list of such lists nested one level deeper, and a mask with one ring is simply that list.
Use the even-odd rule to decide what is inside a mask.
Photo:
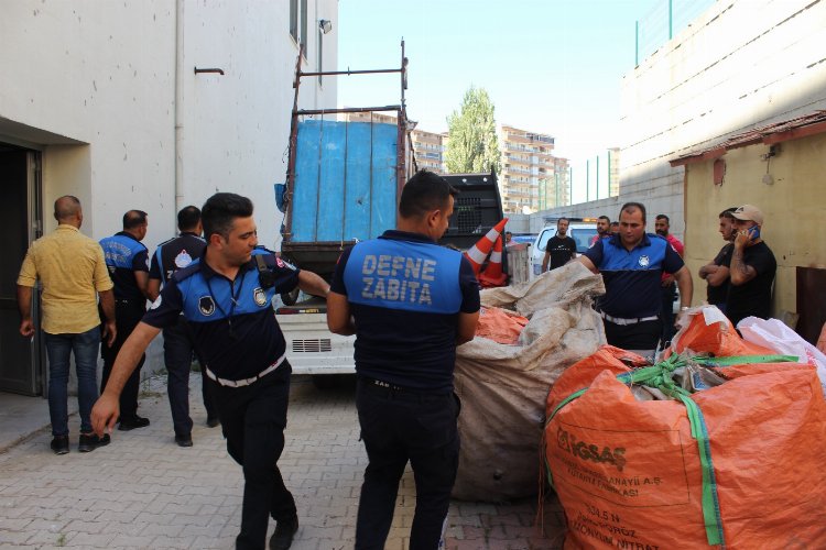
[{"label": "beige wall under rusty roof edge, behind man on phone", "polygon": [[714,162],[686,166],[686,263],[694,275],[694,304],[705,299],[706,285],[696,274],[722,246],[717,215],[725,208],[750,204],[763,211],[761,234],[778,261],[774,316],[796,312],[795,268],[826,267],[826,239],[820,223],[826,213],[826,134],[780,144],[768,162],[772,185],[762,183],[768,145],[729,151],[722,185],[713,180]]}]

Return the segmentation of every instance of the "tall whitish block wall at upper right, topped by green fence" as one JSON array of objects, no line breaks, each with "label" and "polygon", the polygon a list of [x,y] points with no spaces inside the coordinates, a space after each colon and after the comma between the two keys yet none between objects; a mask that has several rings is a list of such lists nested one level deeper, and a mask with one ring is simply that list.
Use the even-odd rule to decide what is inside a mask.
[{"label": "tall whitish block wall at upper right, topped by green fence", "polygon": [[[669,161],[826,109],[825,59],[826,3],[716,2],[623,77],[621,185],[619,198],[608,200],[643,202],[652,219],[670,216],[672,232],[683,238],[692,223],[685,219],[684,168]],[[536,216],[594,216],[605,208],[602,200],[587,205]],[[714,213],[730,205],[718,206]]]}]

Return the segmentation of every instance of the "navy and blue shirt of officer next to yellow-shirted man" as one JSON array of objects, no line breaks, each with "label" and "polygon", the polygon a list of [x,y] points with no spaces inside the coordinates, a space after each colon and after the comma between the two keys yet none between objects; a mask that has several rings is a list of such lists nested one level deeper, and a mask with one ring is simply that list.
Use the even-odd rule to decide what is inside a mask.
[{"label": "navy and blue shirt of officer next to yellow-shirted man", "polygon": [[149,271],[149,251],[138,239],[121,231],[100,240],[106,266],[115,283],[115,299],[143,301],[146,298],[138,288],[134,272]]}]

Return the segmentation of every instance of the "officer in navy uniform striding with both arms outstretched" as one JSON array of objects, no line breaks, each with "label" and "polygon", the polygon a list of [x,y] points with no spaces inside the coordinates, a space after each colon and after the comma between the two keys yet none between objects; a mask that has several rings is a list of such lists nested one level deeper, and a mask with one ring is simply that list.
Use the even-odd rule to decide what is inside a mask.
[{"label": "officer in navy uniform striding with both arms outstretched", "polygon": [[273,254],[253,255],[258,237],[248,198],[216,194],[204,205],[202,221],[207,241],[204,255],[172,275],[123,344],[109,385],[93,409],[93,425],[97,433],[111,431],[118,395],[140,355],[183,312],[213,383],[227,451],[243,468],[236,548],[263,548],[268,516],[278,521],[270,548],[290,548],[298,517],[276,461],[284,449],[292,370],[272,298],[296,285],[326,296],[329,285]]}]

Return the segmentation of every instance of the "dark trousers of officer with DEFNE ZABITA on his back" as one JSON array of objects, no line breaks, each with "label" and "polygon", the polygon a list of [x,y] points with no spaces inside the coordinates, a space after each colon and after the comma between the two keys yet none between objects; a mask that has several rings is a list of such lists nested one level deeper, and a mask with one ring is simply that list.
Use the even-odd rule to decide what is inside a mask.
[{"label": "dark trousers of officer with DEFNE ZABITA on his back", "polygon": [[395,392],[360,380],[356,405],[369,460],[361,485],[356,548],[384,548],[399,481],[410,461],[416,483],[410,549],[435,550],[459,463],[458,398]]}]

